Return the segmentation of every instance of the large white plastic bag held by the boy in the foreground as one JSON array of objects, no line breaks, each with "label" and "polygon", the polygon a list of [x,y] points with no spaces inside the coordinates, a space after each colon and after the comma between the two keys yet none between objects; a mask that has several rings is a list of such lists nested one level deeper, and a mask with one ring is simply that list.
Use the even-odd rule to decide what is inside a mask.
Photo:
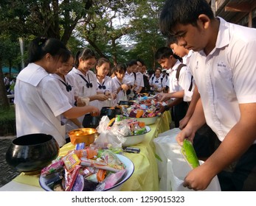
[{"label": "large white plastic bag held by the boy in the foreground", "polygon": [[[156,146],[156,154],[159,171],[159,191],[193,191],[184,188],[184,177],[191,170],[190,166],[184,160],[181,154],[181,147],[176,142],[176,135],[180,129],[170,129],[167,132],[159,134],[158,138],[153,139]],[[204,163],[199,161],[200,164]],[[205,191],[221,191],[218,177],[215,176]]]}]

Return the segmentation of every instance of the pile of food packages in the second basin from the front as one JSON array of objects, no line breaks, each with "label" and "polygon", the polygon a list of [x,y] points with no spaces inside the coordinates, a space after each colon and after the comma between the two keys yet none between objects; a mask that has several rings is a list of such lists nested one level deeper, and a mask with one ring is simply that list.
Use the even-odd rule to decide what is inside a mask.
[{"label": "pile of food packages in the second basin from the front", "polygon": [[108,128],[113,135],[122,135],[123,137],[131,135],[142,135],[147,132],[145,122],[138,121],[134,118],[125,118],[125,116],[117,115],[111,119]]}]

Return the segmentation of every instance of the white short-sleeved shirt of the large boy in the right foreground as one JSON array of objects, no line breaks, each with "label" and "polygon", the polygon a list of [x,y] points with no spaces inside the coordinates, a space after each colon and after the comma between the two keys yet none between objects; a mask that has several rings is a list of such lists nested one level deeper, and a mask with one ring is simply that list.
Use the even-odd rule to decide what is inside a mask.
[{"label": "white short-sleeved shirt of the large boy in the right foreground", "polygon": [[194,52],[190,69],[207,124],[223,141],[241,116],[239,104],[256,102],[256,29],[220,18],[215,48]]}]

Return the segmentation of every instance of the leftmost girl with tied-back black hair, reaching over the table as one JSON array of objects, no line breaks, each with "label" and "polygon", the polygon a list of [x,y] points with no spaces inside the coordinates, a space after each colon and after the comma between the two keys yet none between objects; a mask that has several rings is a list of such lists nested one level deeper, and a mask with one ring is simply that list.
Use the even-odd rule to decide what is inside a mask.
[{"label": "leftmost girl with tied-back black hair, reaching over the table", "polygon": [[59,146],[66,143],[65,118],[77,118],[86,113],[99,115],[97,107],[73,107],[54,74],[70,57],[66,46],[54,38],[35,38],[29,49],[29,64],[15,84],[15,117],[17,137],[32,133],[52,135]]}]

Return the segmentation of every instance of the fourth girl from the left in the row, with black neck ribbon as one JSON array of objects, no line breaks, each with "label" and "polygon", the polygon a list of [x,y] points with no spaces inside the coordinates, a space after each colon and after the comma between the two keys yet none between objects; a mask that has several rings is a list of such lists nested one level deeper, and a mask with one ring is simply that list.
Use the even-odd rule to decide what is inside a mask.
[{"label": "fourth girl from the left in the row, with black neck ribbon", "polygon": [[102,107],[113,107],[114,99],[117,98],[117,88],[114,85],[111,77],[108,77],[110,71],[110,61],[105,58],[100,58],[96,63],[96,77],[97,77],[97,94],[104,94],[108,99],[98,102],[97,107],[101,110]]}]

